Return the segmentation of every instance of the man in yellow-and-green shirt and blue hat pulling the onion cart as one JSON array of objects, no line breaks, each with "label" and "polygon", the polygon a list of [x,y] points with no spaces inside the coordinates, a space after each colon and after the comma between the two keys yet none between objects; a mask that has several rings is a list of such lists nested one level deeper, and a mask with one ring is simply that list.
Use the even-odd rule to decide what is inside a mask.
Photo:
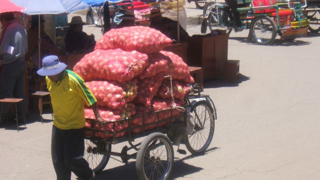
[{"label": "man in yellow-and-green shirt and blue hat pulling the onion cart", "polygon": [[84,103],[90,106],[99,123],[97,100],[84,80],[75,72],[65,70],[57,56],[46,56],[37,71],[46,76],[54,113],[51,155],[57,180],[70,180],[71,171],[83,180],[91,180],[95,174],[84,155]]}]

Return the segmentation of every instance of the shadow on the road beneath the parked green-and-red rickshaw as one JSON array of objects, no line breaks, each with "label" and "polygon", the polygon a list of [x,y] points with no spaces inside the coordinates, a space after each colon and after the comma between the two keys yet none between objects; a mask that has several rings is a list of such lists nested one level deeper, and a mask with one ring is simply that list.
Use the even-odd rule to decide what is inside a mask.
[{"label": "shadow on the road beneath the parked green-and-red rickshaw", "polygon": [[[247,43],[247,37],[229,37],[229,39],[239,41],[240,43]],[[261,44],[255,43],[253,40],[251,40],[247,44],[261,45]],[[274,42],[271,44],[268,44],[268,46],[302,46],[302,45],[308,45],[308,44],[311,44],[311,43],[308,41],[301,41],[301,40],[275,39]],[[265,45],[261,45],[261,46],[265,46]]]}]

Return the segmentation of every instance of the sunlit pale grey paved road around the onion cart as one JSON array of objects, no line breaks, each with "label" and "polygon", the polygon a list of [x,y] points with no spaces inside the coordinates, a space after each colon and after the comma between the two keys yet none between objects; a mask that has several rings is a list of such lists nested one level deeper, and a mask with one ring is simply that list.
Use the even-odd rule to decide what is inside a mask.
[{"label": "sunlit pale grey paved road around the onion cart", "polygon": [[[188,27],[190,33],[199,30]],[[218,113],[208,151],[197,157],[175,153],[170,179],[320,179],[320,34],[295,41],[277,37],[268,46],[245,43],[247,34],[231,33],[228,41],[228,59],[240,60],[239,83],[204,83]],[[10,122],[6,127],[0,127],[0,179],[55,179],[52,121],[31,117],[27,129],[17,132]],[[96,179],[137,179],[133,161],[117,160]]]}]

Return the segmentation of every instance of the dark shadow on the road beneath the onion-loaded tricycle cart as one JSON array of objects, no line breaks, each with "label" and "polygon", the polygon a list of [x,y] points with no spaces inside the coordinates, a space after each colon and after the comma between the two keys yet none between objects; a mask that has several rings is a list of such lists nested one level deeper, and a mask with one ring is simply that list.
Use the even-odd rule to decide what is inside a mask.
[{"label": "dark shadow on the road beneath the onion-loaded tricycle cart", "polygon": [[[219,150],[220,148],[214,147],[207,149],[206,152],[203,154],[211,153],[213,151]],[[201,156],[201,155],[198,155]],[[184,177],[189,174],[193,174],[196,172],[201,171],[203,168],[196,167],[185,163],[185,160],[195,158],[197,156],[189,155],[184,158],[178,159],[174,161],[173,169],[171,171],[170,179],[176,179],[179,177]],[[187,169],[187,170],[186,170]],[[118,180],[118,179],[131,179],[131,180],[138,180],[138,176],[136,173],[136,163],[135,161],[129,162],[127,165],[118,166],[111,169],[106,169],[99,174],[96,174],[95,180]]]}]

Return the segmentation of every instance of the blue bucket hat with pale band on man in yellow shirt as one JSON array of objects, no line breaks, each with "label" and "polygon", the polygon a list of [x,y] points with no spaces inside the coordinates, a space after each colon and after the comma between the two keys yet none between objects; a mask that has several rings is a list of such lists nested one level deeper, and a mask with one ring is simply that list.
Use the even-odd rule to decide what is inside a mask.
[{"label": "blue bucket hat with pale band on man in yellow shirt", "polygon": [[46,56],[42,59],[42,68],[37,71],[39,75],[51,76],[61,73],[67,67],[59,61],[58,56]]}]

